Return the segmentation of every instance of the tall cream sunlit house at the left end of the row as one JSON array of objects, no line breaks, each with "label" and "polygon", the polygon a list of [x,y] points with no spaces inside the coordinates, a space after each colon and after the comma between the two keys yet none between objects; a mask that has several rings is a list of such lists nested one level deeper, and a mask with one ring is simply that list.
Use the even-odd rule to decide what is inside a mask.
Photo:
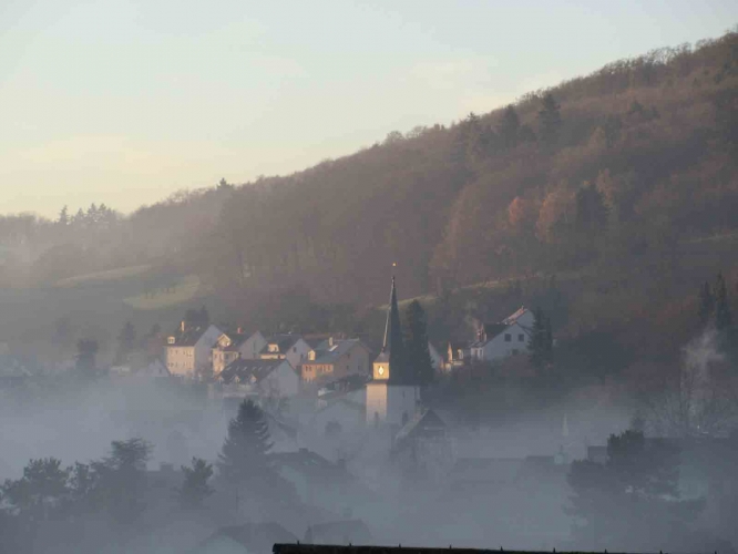
[{"label": "tall cream sunlit house at the left end of the row", "polygon": [[223,335],[217,327],[182,321],[180,334],[166,339],[166,368],[172,375],[194,377],[212,368],[213,346]]}]

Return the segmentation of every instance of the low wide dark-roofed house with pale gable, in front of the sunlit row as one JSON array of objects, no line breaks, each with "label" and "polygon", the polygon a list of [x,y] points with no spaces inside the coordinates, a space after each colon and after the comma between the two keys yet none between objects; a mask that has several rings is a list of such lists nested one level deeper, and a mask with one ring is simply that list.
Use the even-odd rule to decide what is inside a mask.
[{"label": "low wide dark-roofed house with pale gable, in front of the sunlit row", "polygon": [[300,378],[288,360],[245,360],[230,362],[217,377],[224,397],[284,399],[299,392]]}]

